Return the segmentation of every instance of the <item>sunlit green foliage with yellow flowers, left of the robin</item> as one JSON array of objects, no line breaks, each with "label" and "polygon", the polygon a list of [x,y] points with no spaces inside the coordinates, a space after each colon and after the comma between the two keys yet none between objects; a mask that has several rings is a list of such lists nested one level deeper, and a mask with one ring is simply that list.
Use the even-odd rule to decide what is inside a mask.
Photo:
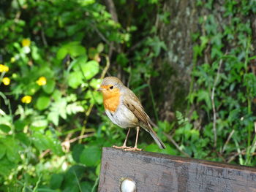
[{"label": "sunlit green foliage with yellow flowers, left of the robin", "polygon": [[[143,14],[127,26],[98,1],[1,3],[7,9],[0,9],[0,191],[97,191],[101,147],[125,137],[102,115],[102,96],[94,91],[108,54],[114,50],[112,62],[124,72],[138,73],[136,86],[156,75],[154,59],[166,50],[154,20],[147,21],[159,2],[132,3]],[[140,26],[147,32],[137,35]]]}]

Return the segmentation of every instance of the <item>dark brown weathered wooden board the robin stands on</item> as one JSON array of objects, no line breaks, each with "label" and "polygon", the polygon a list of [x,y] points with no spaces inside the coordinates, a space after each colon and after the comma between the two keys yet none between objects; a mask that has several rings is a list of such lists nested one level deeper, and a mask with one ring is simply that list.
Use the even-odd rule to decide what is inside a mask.
[{"label": "dark brown weathered wooden board the robin stands on", "polygon": [[104,147],[98,191],[120,191],[126,178],[137,192],[256,192],[255,167]]}]

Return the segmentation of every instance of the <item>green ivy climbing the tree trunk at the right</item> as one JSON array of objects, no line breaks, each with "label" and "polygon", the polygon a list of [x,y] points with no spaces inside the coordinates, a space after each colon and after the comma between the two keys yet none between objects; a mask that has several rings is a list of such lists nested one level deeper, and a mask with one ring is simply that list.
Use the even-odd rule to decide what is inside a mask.
[{"label": "green ivy climbing the tree trunk at the right", "polygon": [[[203,130],[200,139],[197,139],[204,143],[203,147],[208,147],[208,150],[197,147],[194,152],[197,158],[233,161],[230,153],[238,152],[239,164],[256,164],[255,158],[252,158],[252,153],[255,152],[253,129],[256,119],[256,76],[249,68],[255,55],[251,46],[252,29],[249,20],[243,22],[240,15],[255,13],[254,6],[249,7],[249,4],[254,3],[227,1],[222,9],[225,10],[225,16],[232,15],[230,20],[224,17],[219,23],[216,15],[205,15],[200,18],[205,33],[194,35],[194,40],[198,42],[194,47],[195,65],[192,72],[195,84],[192,81],[187,98],[189,104],[195,107],[196,114],[205,111],[205,115],[196,115],[191,118],[190,123],[201,122],[200,128]],[[203,4],[200,1],[198,5],[205,6],[206,9],[212,7],[210,2]],[[196,64],[203,57],[203,64]],[[197,145],[187,141],[184,143]],[[214,150],[209,150],[211,148]],[[197,151],[204,153],[197,154]]]}]

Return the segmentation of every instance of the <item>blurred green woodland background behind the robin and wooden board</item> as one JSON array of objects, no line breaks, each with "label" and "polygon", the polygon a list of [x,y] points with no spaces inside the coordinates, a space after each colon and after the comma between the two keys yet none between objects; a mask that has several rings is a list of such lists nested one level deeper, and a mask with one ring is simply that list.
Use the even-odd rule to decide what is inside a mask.
[{"label": "blurred green woodland background behind the robin and wooden board", "polygon": [[[255,166],[255,0],[1,0],[0,191],[97,191],[127,131],[95,91],[119,77],[167,148]],[[128,145],[134,145],[132,130]]]}]

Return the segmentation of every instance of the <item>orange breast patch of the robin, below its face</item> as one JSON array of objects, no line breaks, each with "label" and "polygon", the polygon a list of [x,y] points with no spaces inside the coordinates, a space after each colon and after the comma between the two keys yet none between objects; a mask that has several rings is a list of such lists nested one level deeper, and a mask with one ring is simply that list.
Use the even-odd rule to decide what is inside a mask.
[{"label": "orange breast patch of the robin, below its face", "polygon": [[113,91],[103,92],[103,104],[106,110],[110,112],[116,112],[117,107],[120,103],[120,91],[116,88]]}]

